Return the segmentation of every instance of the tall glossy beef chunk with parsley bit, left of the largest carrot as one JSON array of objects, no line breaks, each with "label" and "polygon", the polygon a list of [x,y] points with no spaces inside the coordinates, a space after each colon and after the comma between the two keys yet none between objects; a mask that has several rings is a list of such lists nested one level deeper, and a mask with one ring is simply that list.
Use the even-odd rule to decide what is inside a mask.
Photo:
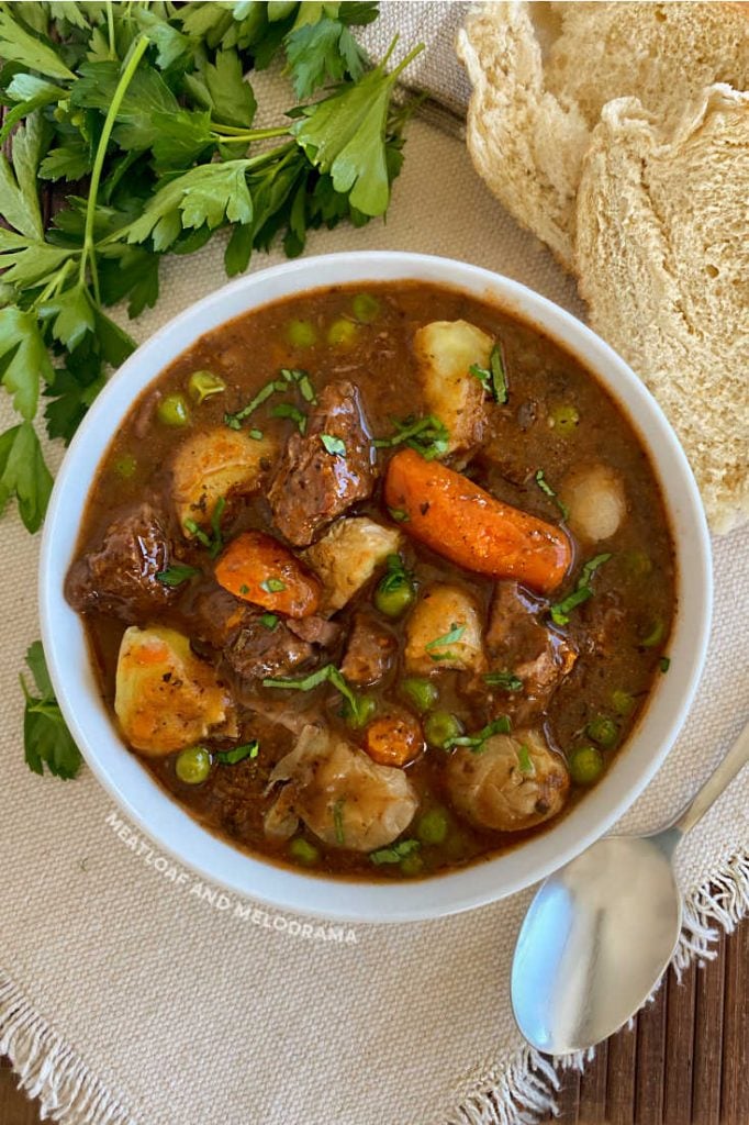
[{"label": "tall glossy beef chunk with parsley bit, left of the largest carrot", "polygon": [[[343,442],[328,452],[323,436]],[[305,434],[286,446],[268,493],[273,521],[289,542],[306,547],[318,531],[374,485],[373,449],[359,392],[352,382],[332,382],[307,420]]]}]

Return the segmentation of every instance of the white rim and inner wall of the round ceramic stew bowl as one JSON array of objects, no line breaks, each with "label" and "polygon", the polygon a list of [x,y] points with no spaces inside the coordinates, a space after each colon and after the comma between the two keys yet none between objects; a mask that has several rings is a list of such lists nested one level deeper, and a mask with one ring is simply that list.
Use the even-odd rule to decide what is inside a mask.
[{"label": "white rim and inner wall of the round ceramic stew bowl", "polygon": [[[556,827],[507,855],[408,883],[337,882],[264,863],[200,828],[125,748],[99,693],[85,634],[63,595],[91,479],[134,399],[205,332],[269,302],[321,286],[416,279],[488,299],[541,327],[595,372],[632,418],[666,496],[678,557],[678,612],[668,675],[603,781]],[[42,543],[44,648],[63,714],[87,762],[160,848],[226,889],[324,918],[405,921],[481,906],[536,882],[592,844],[629,808],[668,754],[689,709],[710,630],[710,540],[684,452],[626,363],[569,313],[524,286],[463,262],[396,252],[307,258],[243,277],[198,302],[139,348],[99,395],[57,476]]]}]

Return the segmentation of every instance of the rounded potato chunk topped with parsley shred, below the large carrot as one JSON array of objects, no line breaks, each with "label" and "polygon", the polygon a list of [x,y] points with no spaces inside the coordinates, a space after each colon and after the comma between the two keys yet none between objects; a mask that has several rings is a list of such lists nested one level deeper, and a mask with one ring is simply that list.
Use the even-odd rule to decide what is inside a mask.
[{"label": "rounded potato chunk topped with parsley shred, below the large carrot", "polygon": [[449,583],[430,586],[406,624],[407,670],[485,667],[481,621],[471,595]]}]

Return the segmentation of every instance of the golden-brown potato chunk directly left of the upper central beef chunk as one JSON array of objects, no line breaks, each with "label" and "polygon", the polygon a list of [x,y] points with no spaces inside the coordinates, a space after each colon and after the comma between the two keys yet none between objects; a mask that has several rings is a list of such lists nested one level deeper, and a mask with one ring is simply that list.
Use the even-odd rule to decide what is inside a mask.
[{"label": "golden-brown potato chunk directly left of the upper central beef chunk", "polygon": [[274,452],[270,438],[254,441],[245,430],[226,426],[182,442],[172,462],[174,507],[182,529],[186,520],[208,524],[219,496],[258,488]]}]

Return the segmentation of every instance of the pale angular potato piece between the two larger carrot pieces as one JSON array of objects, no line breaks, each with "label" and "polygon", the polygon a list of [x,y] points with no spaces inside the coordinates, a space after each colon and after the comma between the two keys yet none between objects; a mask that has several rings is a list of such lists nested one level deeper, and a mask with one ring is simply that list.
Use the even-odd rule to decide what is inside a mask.
[{"label": "pale angular potato piece between the two larger carrot pieces", "polygon": [[323,609],[335,613],[400,546],[400,532],[364,515],[339,520],[303,552],[323,582]]}]

